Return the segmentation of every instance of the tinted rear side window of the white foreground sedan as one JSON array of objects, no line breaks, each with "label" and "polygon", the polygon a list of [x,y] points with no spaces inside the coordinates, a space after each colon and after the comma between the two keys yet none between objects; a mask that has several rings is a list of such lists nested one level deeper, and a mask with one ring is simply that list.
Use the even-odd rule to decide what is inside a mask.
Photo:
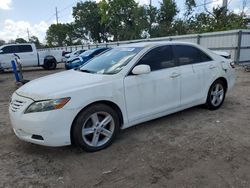
[{"label": "tinted rear side window of the white foreground sedan", "polygon": [[204,52],[193,46],[175,45],[173,46],[173,52],[175,60],[179,65],[188,65],[212,60]]}]

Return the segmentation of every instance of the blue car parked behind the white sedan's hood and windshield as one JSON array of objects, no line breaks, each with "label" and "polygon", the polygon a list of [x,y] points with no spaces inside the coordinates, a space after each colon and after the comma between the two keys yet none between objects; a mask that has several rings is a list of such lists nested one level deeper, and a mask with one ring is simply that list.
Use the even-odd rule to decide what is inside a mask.
[{"label": "blue car parked behind the white sedan's hood and windshield", "polygon": [[78,57],[69,58],[65,63],[65,69],[77,68],[95,56],[108,51],[110,48],[94,48],[81,53]]}]

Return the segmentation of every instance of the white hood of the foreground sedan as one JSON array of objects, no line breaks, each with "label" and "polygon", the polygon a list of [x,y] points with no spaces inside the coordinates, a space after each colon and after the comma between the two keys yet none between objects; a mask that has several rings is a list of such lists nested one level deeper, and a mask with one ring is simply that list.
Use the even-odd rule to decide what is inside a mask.
[{"label": "white hood of the foreground sedan", "polygon": [[16,93],[33,100],[68,97],[66,95],[73,90],[100,84],[107,79],[108,75],[69,70],[30,81]]}]

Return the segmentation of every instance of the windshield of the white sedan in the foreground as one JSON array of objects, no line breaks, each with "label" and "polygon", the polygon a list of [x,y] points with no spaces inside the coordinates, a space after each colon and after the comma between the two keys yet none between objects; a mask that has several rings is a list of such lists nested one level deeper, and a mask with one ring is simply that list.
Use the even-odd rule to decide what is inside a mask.
[{"label": "windshield of the white sedan in the foreground", "polygon": [[142,48],[114,48],[80,67],[83,72],[96,74],[116,74],[141,51]]}]

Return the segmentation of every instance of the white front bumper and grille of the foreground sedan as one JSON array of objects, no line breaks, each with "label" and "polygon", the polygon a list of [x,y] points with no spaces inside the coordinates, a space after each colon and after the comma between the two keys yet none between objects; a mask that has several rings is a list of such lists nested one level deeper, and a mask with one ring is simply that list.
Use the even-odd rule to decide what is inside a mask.
[{"label": "white front bumper and grille of the foreground sedan", "polygon": [[16,136],[21,140],[44,146],[70,145],[70,129],[77,112],[62,108],[24,114],[31,103],[32,99],[16,93],[12,96],[9,114]]}]

